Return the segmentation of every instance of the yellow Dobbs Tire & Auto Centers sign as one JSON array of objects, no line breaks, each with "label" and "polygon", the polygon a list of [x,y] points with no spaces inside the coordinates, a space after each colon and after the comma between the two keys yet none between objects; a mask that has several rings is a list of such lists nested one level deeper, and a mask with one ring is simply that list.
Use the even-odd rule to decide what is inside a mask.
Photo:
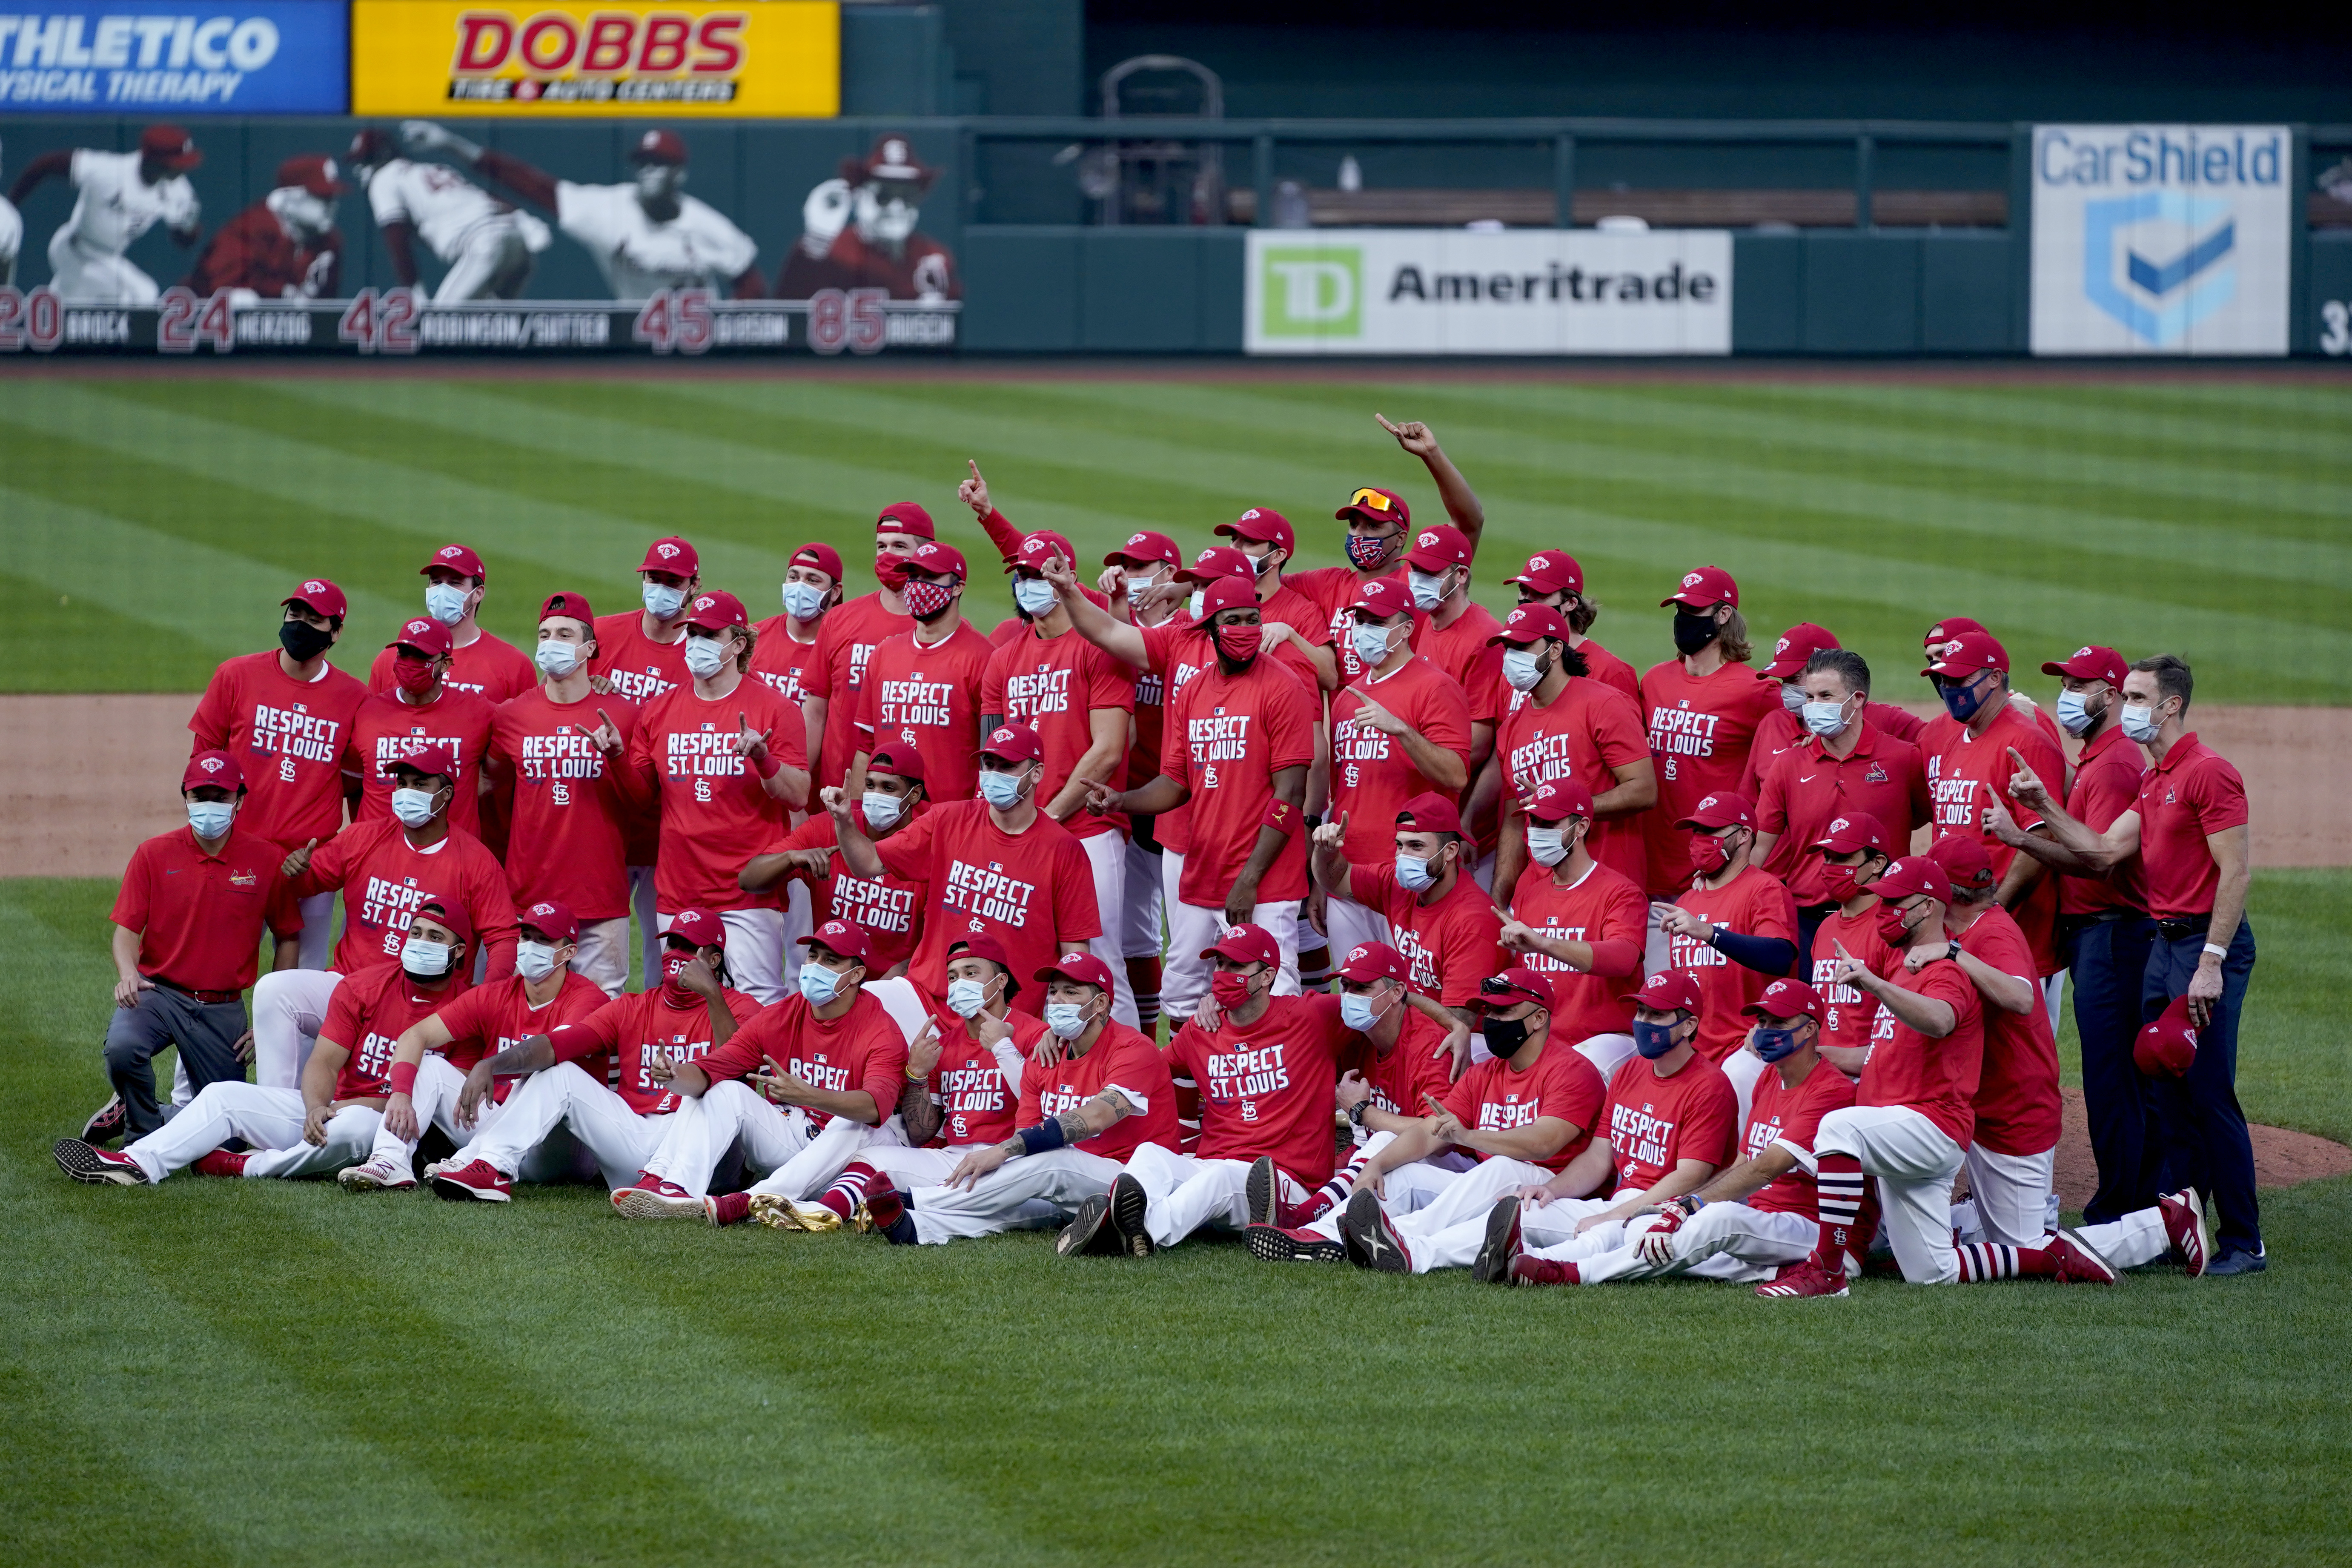
[{"label": "yellow Dobbs Tire & Auto Centers sign", "polygon": [[842,7],[355,0],[350,113],[837,115]]}]

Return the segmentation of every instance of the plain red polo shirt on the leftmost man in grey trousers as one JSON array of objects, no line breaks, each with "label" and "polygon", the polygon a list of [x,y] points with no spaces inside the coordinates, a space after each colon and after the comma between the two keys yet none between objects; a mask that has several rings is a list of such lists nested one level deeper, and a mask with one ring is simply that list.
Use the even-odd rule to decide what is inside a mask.
[{"label": "plain red polo shirt on the leftmost man in grey trousers", "polygon": [[287,858],[273,839],[230,823],[207,856],[193,827],[139,844],[108,914],[139,933],[139,973],[205,992],[240,992],[261,973],[261,931],[301,936]]}]

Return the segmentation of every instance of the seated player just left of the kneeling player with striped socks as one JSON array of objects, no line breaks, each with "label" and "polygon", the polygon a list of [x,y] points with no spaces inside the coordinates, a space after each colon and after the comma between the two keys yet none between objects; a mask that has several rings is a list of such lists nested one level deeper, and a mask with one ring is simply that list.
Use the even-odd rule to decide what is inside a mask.
[{"label": "seated player just left of the kneeling player with striped socks", "polygon": [[[1804,1262],[1820,1237],[1813,1135],[1825,1114],[1853,1105],[1853,1079],[1820,1060],[1825,1009],[1804,980],[1773,980],[1745,1011],[1755,1018],[1748,1048],[1771,1072],[1757,1084],[1738,1164],[1696,1192],[1644,1206],[1621,1232],[1592,1229],[1541,1253],[1519,1251],[1517,1213],[1505,1213],[1501,1239],[1482,1258],[1486,1269],[1475,1276],[1515,1286],[1677,1274],[1757,1284]],[[1858,1267],[1860,1260],[1849,1262],[1849,1272]]]}]

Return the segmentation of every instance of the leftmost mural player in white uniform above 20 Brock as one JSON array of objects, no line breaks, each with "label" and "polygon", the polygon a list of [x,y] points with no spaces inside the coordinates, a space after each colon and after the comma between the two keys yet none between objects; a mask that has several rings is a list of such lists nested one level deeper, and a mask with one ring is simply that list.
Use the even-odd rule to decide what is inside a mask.
[{"label": "leftmost mural player in white uniform above 20 Brock", "polygon": [[188,169],[205,162],[195,139],[176,125],[139,132],[136,153],[42,153],[24,167],[7,197],[24,207],[52,174],[73,181],[73,214],[49,235],[49,287],[68,306],[153,306],[162,289],[125,252],[155,223],[176,244],[195,244],[202,209]]}]

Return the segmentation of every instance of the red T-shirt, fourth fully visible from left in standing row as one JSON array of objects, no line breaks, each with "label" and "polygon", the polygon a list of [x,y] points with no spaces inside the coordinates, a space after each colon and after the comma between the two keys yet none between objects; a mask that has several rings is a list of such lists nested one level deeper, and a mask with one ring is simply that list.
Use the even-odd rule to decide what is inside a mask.
[{"label": "red T-shirt, fourth fully visible from left in standing row", "polygon": [[722,698],[701,698],[694,686],[656,696],[637,715],[628,738],[628,771],[621,785],[633,797],[659,790],[661,860],[654,867],[654,903],[663,914],[680,910],[774,910],[774,891],[746,893],[736,886],[743,863],[783,837],[786,804],[767,792],[748,757],[736,757],[741,726],[767,731],[769,752],[783,766],[809,766],[800,708],[762,682],[739,679]]}]

